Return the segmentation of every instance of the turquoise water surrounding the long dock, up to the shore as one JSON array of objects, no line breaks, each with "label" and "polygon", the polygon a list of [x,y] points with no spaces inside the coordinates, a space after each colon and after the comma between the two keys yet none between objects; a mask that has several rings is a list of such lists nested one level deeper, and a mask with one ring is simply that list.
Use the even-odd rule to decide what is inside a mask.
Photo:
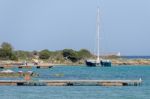
[{"label": "turquoise water surrounding the long dock, up to the shore", "polygon": [[[28,71],[13,69],[14,71]],[[40,79],[139,79],[141,86],[0,86],[0,99],[149,99],[150,67],[85,67],[59,66],[51,69],[32,69]],[[4,78],[3,78],[4,79]],[[7,79],[7,78],[5,78]],[[20,78],[21,79],[21,78]]]}]

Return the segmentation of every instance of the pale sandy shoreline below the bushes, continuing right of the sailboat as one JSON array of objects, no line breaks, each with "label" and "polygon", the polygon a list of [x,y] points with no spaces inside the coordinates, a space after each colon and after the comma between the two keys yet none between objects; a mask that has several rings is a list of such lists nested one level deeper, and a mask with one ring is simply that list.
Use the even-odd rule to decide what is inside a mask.
[{"label": "pale sandy shoreline below the bushes, continuing right of the sailboat", "polygon": [[[127,58],[112,58],[109,59],[112,62],[113,66],[121,66],[121,65],[144,65],[144,66],[150,66],[150,59],[127,59]],[[10,60],[0,60],[0,66],[22,66],[22,61],[10,61]],[[28,66],[36,66],[33,65],[34,63],[29,61]],[[37,66],[45,67],[45,66],[84,66],[84,60],[81,60],[79,62],[51,62],[51,61],[43,61],[43,63],[39,63]]]}]

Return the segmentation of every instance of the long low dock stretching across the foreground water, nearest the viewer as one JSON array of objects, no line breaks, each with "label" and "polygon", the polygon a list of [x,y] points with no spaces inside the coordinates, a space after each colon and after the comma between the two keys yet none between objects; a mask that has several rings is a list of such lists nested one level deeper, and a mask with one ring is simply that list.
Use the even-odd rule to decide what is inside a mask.
[{"label": "long low dock stretching across the foreground water, nearest the viewer", "polygon": [[139,86],[142,80],[0,80],[0,86]]}]

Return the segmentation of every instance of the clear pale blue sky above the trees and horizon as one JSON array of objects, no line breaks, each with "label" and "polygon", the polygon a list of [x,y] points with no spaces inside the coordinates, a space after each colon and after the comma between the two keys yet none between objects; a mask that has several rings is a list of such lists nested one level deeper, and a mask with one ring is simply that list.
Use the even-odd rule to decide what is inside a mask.
[{"label": "clear pale blue sky above the trees and horizon", "polygon": [[82,48],[150,55],[150,0],[0,0],[0,44],[15,50]]}]

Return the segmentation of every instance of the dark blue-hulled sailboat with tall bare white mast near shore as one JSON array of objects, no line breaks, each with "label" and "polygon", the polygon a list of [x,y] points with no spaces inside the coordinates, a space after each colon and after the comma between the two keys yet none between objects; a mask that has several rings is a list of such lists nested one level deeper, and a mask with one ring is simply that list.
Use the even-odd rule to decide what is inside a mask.
[{"label": "dark blue-hulled sailboat with tall bare white mast near shore", "polygon": [[100,20],[99,20],[99,17],[100,17],[100,14],[99,14],[99,7],[98,7],[98,11],[97,11],[97,59],[95,60],[86,60],[85,61],[85,64],[89,67],[95,67],[95,66],[101,66],[101,67],[111,67],[111,61],[110,60],[104,60],[104,59],[100,59],[99,56],[100,56],[100,46],[99,46],[99,41],[100,41],[100,38],[99,38],[99,32],[100,32]]}]

